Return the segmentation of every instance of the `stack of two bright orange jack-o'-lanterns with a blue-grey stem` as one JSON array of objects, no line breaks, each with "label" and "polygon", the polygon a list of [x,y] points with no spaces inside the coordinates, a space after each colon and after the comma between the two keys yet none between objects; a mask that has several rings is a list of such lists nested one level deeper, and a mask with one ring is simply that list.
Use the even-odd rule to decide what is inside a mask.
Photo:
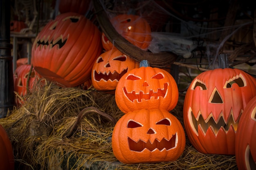
[{"label": "stack of two bright orange jack-o'-lanterns with a blue-grey stem", "polygon": [[185,148],[180,121],[169,111],[178,100],[171,74],[143,60],[117,84],[115,100],[125,113],[114,127],[112,149],[122,163],[175,161]]}]

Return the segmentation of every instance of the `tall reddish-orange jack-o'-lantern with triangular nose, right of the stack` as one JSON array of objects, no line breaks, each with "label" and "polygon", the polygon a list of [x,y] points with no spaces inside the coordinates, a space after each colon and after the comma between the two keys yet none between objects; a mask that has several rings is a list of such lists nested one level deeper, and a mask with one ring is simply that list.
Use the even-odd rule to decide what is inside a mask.
[{"label": "tall reddish-orange jack-o'-lantern with triangular nose, right of the stack", "polygon": [[256,79],[239,69],[199,74],[184,100],[184,125],[191,144],[206,154],[235,154],[238,121],[256,95]]}]

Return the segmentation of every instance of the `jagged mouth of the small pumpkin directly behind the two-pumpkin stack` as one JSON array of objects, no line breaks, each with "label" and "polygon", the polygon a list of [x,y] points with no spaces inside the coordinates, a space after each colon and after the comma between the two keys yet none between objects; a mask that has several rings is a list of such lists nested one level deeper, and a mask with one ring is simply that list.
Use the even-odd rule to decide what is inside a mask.
[{"label": "jagged mouth of the small pumpkin directly behind the two-pumpkin stack", "polygon": [[97,73],[94,70],[94,79],[96,81],[100,81],[101,79],[105,82],[107,82],[108,80],[110,80],[111,82],[113,81],[119,81],[119,79],[125,74],[127,73],[128,68],[124,69],[121,73],[117,73],[116,71],[114,71],[113,73],[111,73],[110,71],[107,73],[106,71],[104,73],[101,73],[99,71],[99,73]]}]

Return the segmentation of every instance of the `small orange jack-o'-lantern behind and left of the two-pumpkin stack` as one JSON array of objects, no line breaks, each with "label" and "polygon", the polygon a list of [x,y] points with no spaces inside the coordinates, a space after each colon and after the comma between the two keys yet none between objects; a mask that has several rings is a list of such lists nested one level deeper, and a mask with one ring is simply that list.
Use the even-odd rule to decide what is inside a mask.
[{"label": "small orange jack-o'-lantern behind and left of the two-pumpkin stack", "polygon": [[98,91],[113,91],[119,79],[133,68],[139,68],[139,62],[117,49],[107,51],[92,66],[92,84]]}]

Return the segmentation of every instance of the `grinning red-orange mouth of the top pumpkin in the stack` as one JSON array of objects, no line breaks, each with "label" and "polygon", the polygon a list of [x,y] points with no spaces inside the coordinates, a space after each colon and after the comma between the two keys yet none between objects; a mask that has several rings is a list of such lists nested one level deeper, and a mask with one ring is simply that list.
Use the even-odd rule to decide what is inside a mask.
[{"label": "grinning red-orange mouth of the top pumpkin in the stack", "polygon": [[137,100],[137,102],[141,102],[142,99],[144,100],[150,100],[152,97],[154,99],[158,99],[159,97],[165,97],[167,92],[168,83],[164,84],[164,88],[158,88],[157,92],[154,92],[153,90],[150,90],[148,93],[143,93],[142,91],[139,91],[139,93],[135,93],[135,91],[127,92],[126,88],[123,88],[123,91],[126,95],[126,97],[131,101],[134,102],[134,100]]}]

